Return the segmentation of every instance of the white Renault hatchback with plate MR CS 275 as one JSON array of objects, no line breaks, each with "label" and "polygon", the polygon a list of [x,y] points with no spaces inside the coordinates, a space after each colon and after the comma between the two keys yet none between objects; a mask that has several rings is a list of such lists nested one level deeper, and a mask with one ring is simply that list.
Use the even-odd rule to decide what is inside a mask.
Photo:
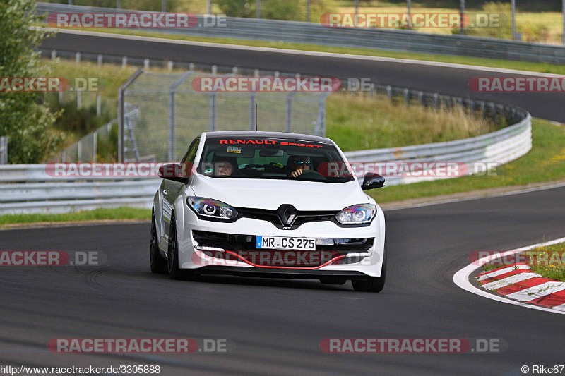
[{"label": "white Renault hatchback with plate MR CS 275", "polygon": [[153,201],[152,272],[352,281],[379,292],[385,221],[335,142],[278,132],[206,132],[162,166]]}]

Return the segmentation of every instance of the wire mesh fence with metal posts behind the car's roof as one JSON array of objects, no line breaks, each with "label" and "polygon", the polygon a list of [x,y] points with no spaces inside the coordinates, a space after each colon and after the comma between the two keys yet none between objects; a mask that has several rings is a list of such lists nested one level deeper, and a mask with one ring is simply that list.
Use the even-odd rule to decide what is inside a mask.
[{"label": "wire mesh fence with metal posts behind the car's roof", "polygon": [[[141,70],[121,87],[122,160],[179,160],[200,133],[254,130],[256,121],[261,131],[325,135],[327,93],[201,92],[194,89],[194,80],[210,73],[257,77],[266,72],[212,66],[208,73],[190,68],[182,73]],[[280,73],[270,72],[274,75]]]}]

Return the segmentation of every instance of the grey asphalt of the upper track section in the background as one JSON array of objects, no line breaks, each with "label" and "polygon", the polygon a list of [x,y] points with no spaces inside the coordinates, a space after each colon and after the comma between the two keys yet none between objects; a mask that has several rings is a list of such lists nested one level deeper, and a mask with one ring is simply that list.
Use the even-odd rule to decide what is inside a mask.
[{"label": "grey asphalt of the upper track section in the background", "polygon": [[484,93],[473,92],[468,86],[470,79],[474,77],[514,75],[510,73],[489,73],[489,71],[445,66],[126,40],[111,35],[87,36],[59,33],[54,38],[44,40],[42,47],[90,54],[241,66],[340,78],[370,78],[373,83],[386,83],[417,90],[513,104],[527,109],[532,116],[565,123],[565,93]]}]

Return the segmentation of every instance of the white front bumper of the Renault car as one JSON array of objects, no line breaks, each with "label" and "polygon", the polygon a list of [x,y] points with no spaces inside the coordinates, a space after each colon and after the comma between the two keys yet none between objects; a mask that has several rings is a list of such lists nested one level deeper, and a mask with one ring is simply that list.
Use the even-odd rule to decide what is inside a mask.
[{"label": "white front bumper of the Renault car", "polygon": [[[290,278],[319,278],[319,277],[347,277],[348,279],[356,277],[380,277],[383,261],[384,248],[384,216],[381,208],[378,208],[378,214],[369,224],[369,226],[338,226],[332,221],[307,222],[300,225],[297,229],[284,230],[278,229],[272,223],[253,218],[240,218],[232,223],[210,222],[198,219],[196,214],[186,205],[179,202],[175,205],[177,212],[177,236],[179,241],[179,267],[181,269],[201,269],[202,273],[215,274],[253,274],[261,277],[290,277]],[[181,214],[182,215],[179,215]],[[182,217],[182,218],[181,218]],[[221,241],[215,243],[204,243],[203,234],[230,234],[232,236],[247,237],[246,242],[230,243]],[[196,234],[196,236],[195,236]],[[257,251],[253,243],[254,236],[288,236],[295,238],[356,238],[371,239],[369,243],[347,247],[346,251],[338,250],[340,254],[345,253],[368,253],[367,257],[353,257],[346,259],[340,257],[341,260],[335,262],[323,263],[316,265],[280,265],[280,267],[270,265],[259,265],[258,262],[249,262],[251,259],[249,253]],[[210,257],[210,253],[203,252],[194,248],[195,245],[212,245],[215,248],[230,250],[232,255],[235,253],[244,255],[244,257]],[[223,245],[223,246],[222,246]],[[251,249],[244,249],[249,245]],[[234,249],[238,248],[239,249]],[[324,245],[317,245],[316,249],[323,252],[329,251],[333,256],[338,255],[335,249],[324,248]],[[266,250],[262,250],[266,251]],[[269,250],[276,251],[276,250]],[[247,255],[245,253],[248,252]],[[295,251],[297,252],[297,251]],[[326,253],[324,260],[330,260],[331,257]],[[219,260],[220,259],[220,260]]]}]

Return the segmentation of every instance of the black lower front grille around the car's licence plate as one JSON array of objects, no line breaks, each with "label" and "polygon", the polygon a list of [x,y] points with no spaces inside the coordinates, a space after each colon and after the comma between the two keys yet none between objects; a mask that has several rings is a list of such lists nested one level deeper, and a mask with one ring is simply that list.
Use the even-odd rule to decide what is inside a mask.
[{"label": "black lower front grille around the car's licence plate", "polygon": [[[253,262],[255,265],[276,267],[316,267],[340,255],[367,251],[374,244],[374,238],[318,238],[315,251],[260,249],[264,256],[261,257],[255,248],[254,235],[225,234],[197,230],[192,231],[192,234],[198,245],[203,247],[230,250],[245,260]],[[239,259],[235,255],[220,251],[203,251],[203,253],[210,257],[224,260],[236,261]],[[349,264],[359,262],[360,260],[358,257],[344,257],[333,262],[333,265]]]}]

